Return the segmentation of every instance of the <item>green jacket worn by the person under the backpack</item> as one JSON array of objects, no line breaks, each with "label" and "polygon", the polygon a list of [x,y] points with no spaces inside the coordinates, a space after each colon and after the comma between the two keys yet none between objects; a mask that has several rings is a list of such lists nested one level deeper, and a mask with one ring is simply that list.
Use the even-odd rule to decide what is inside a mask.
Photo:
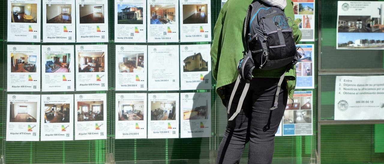
[{"label": "green jacket worn by the person under the backpack", "polygon": [[[254,0],[228,0],[220,10],[214,28],[214,40],[211,47],[212,73],[217,80],[216,93],[223,100],[223,86],[235,82],[238,76],[237,64],[242,59],[244,51],[243,25],[248,5]],[[293,2],[287,0],[284,13],[287,17],[295,20],[293,13]],[[289,23],[291,25],[291,22]],[[296,44],[301,39],[301,31],[296,23],[293,23],[293,36]],[[293,91],[296,87],[296,67],[290,66],[289,71],[285,72],[289,97],[292,99]],[[276,69],[262,71],[255,69],[254,77],[280,77],[284,70]],[[225,105],[225,104],[224,104]]]}]

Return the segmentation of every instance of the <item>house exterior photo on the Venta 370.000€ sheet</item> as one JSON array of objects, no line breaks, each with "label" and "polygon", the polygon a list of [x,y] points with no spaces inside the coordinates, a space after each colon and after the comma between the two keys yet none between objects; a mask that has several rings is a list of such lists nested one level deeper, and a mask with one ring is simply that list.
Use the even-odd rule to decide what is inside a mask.
[{"label": "house exterior photo on the Venta 370.000\u20ac sheet", "polygon": [[142,5],[118,5],[118,24],[143,24]]}]

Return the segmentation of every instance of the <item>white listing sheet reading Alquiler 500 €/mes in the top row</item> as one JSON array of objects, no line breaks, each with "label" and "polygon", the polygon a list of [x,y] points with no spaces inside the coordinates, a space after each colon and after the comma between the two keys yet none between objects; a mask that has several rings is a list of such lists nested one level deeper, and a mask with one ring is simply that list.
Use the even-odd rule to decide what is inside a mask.
[{"label": "white listing sheet reading Alquiler 500 \u20ac/mes in the top row", "polygon": [[75,42],[75,0],[43,0],[43,42]]}]

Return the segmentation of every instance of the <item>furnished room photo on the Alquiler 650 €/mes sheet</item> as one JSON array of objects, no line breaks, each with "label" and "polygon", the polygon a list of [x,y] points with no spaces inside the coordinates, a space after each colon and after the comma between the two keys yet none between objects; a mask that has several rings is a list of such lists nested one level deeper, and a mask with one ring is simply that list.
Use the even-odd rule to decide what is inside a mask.
[{"label": "furnished room photo on the Alquiler 650 \u20ac/mes sheet", "polygon": [[105,72],[104,52],[79,52],[79,72]]}]

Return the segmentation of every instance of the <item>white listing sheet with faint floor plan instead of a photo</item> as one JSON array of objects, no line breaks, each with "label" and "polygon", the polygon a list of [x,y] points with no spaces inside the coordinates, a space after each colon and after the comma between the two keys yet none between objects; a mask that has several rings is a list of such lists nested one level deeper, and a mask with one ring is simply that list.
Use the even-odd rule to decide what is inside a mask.
[{"label": "white listing sheet with faint floor plan instead of a photo", "polygon": [[179,46],[148,46],[148,90],[179,90]]}]

